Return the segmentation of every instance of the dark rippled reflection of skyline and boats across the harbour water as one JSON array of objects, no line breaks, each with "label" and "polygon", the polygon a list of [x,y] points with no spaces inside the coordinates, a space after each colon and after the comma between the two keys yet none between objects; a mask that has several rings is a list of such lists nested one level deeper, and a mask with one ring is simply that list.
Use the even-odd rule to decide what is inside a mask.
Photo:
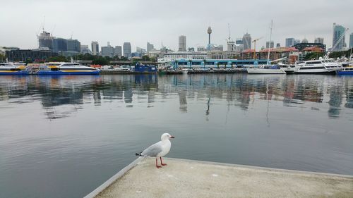
[{"label": "dark rippled reflection of skyline and boats across the harbour water", "polygon": [[[83,103],[139,102],[153,107],[156,95],[179,95],[180,111],[187,113],[188,99],[225,99],[228,106],[247,110],[257,100],[283,101],[294,107],[304,101],[328,101],[328,116],[337,118],[342,108],[353,108],[353,78],[326,75],[101,75],[0,78],[0,100],[26,103],[40,100],[47,118],[66,118],[83,109]],[[145,99],[145,101],[141,100]],[[68,109],[56,106],[71,105]],[[133,106],[133,105],[127,105]],[[315,109],[313,107],[313,109]]]}]

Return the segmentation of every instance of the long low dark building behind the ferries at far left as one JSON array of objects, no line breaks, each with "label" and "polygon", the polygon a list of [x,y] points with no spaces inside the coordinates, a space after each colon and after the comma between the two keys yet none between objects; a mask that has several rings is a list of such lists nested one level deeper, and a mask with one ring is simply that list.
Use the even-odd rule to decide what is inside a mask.
[{"label": "long low dark building behind the ferries at far left", "polygon": [[52,56],[58,56],[59,54],[53,52],[49,49],[42,50],[42,49],[15,49],[6,51],[6,57],[8,61],[27,61],[28,59],[31,61],[36,60],[47,60]]}]

